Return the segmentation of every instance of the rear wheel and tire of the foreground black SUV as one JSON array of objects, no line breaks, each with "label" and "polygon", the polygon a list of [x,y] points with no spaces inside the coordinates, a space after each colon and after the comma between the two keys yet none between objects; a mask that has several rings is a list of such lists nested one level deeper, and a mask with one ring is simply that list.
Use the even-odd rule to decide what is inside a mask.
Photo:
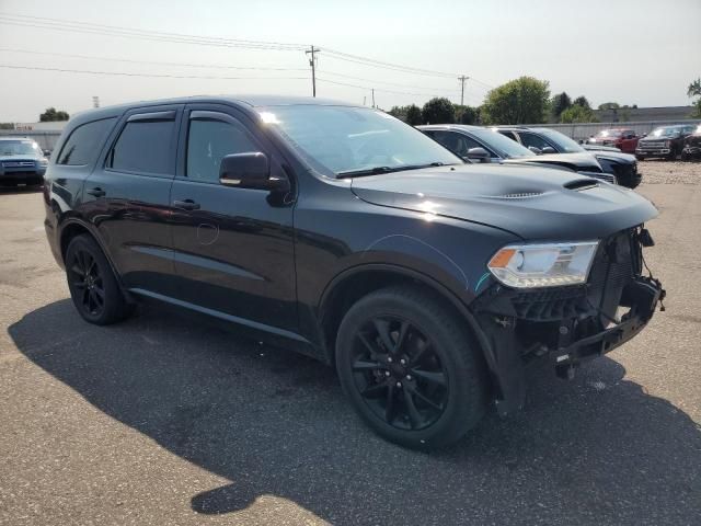
[{"label": "rear wheel and tire of the foreground black SUV", "polygon": [[89,235],[76,236],[68,244],[66,278],[78,313],[89,323],[108,325],[134,312],[107,258]]}]

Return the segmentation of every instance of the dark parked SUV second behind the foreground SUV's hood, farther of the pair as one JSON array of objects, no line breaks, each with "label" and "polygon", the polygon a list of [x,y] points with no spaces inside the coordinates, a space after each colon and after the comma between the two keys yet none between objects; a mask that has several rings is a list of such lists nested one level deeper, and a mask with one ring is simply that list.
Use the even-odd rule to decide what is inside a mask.
[{"label": "dark parked SUV second behind the foreground SUV's hood, farther of the pair", "polygon": [[516,140],[521,146],[537,151],[545,153],[589,153],[596,158],[605,172],[616,175],[618,183],[629,188],[636,187],[641,182],[642,176],[637,171],[635,157],[623,153],[618,149],[588,151],[566,135],[550,128],[502,126],[494,129],[505,137]]}]

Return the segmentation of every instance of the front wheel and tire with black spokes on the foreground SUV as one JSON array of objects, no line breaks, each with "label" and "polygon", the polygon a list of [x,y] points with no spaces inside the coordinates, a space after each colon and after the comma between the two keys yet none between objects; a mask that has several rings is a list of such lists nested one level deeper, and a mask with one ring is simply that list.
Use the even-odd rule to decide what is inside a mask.
[{"label": "front wheel and tire with black spokes on the foreground SUV", "polygon": [[430,449],[457,442],[480,422],[486,367],[464,325],[439,299],[412,287],[384,288],[350,307],[338,329],[336,370],[376,433]]}]

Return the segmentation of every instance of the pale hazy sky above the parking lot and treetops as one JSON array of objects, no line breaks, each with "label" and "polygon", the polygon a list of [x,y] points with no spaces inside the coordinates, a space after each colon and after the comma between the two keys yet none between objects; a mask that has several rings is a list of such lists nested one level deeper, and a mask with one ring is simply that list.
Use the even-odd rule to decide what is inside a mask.
[{"label": "pale hazy sky above the parking lot and treetops", "polygon": [[[324,48],[472,77],[476,81],[466,83],[470,105],[482,102],[485,84],[496,87],[522,75],[550,81],[553,94],[563,90],[573,99],[583,94],[595,106],[608,101],[686,105],[690,104],[688,84],[701,77],[700,0],[0,0],[3,66],[237,78],[117,77],[0,67],[0,122],[34,122],[47,106],[72,114],[91,107],[93,95],[104,106],[193,94],[311,94],[302,50],[153,42],[105,35],[94,25],[90,33],[56,31],[27,25],[37,25],[36,19],[10,15],[209,38],[313,44],[322,49],[319,78],[326,80],[318,83],[319,96],[370,104],[370,88],[375,88],[376,103],[387,110],[412,102],[422,105],[433,95],[459,103],[459,81],[341,60],[324,54]],[[23,25],[9,20],[22,20]]]}]

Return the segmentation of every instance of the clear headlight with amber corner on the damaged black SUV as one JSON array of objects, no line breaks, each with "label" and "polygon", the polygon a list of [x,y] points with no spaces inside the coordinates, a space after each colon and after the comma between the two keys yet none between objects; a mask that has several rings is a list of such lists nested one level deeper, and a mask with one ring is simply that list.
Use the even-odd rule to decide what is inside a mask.
[{"label": "clear headlight with amber corner on the damaged black SUV", "polygon": [[509,244],[487,267],[509,287],[558,287],[586,283],[598,241],[548,244]]}]

